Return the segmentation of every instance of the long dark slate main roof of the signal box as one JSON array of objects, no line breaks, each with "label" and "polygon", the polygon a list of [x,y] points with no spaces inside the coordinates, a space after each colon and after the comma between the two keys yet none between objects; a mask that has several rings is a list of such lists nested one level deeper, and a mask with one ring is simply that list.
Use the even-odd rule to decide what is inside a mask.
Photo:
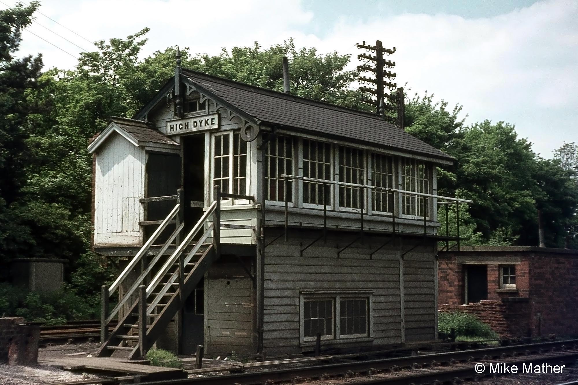
[{"label": "long dark slate main roof of the signal box", "polygon": [[283,125],[444,161],[454,160],[446,153],[380,119],[376,114],[249,86],[188,69],[183,69],[182,73],[192,82],[214,92],[224,101],[263,123]]}]

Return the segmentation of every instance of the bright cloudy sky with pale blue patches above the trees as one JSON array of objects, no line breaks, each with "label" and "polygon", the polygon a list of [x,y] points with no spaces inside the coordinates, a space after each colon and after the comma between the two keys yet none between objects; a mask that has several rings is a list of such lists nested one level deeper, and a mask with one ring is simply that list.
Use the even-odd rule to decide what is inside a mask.
[{"label": "bright cloudy sky with pale blue patches above the trees", "polygon": [[42,53],[46,68],[72,68],[90,42],[144,27],[143,57],[174,45],[218,54],[294,38],[350,54],[355,66],[355,43],[379,39],[397,48],[399,86],[462,105],[466,124],[514,124],[546,158],[578,142],[576,0],[44,0],[40,12],[18,54]]}]

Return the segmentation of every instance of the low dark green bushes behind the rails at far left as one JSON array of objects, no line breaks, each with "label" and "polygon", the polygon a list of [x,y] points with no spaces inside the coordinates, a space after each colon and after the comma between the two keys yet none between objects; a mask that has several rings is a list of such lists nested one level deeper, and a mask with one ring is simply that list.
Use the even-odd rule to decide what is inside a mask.
[{"label": "low dark green bushes behind the rails at far left", "polygon": [[35,293],[0,283],[0,316],[24,317],[31,322],[60,325],[69,320],[94,319],[98,307],[91,306],[72,290]]}]

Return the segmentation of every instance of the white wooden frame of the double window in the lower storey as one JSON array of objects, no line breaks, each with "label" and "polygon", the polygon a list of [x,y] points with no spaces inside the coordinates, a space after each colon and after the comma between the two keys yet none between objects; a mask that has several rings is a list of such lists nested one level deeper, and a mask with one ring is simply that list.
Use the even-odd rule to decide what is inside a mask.
[{"label": "white wooden frame of the double window in the lower storey", "polygon": [[[333,325],[333,335],[332,336],[321,336],[321,340],[330,342],[348,342],[351,340],[359,339],[372,339],[373,337],[373,291],[364,290],[343,290],[343,291],[315,291],[315,290],[303,290],[299,295],[299,340],[301,344],[307,344],[314,342],[317,337],[305,337],[305,323],[304,323],[304,310],[305,301],[327,301],[332,299],[334,305],[334,319],[332,321]],[[341,301],[347,299],[365,299],[367,301],[367,325],[365,334],[341,334],[340,325],[340,306]],[[331,337],[331,338],[329,338]]]}]

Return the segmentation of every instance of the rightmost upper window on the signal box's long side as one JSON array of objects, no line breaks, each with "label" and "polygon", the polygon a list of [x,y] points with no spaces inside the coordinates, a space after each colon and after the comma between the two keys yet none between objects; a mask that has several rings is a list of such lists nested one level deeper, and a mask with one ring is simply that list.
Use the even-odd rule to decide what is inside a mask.
[{"label": "rightmost upper window on the signal box's long side", "polygon": [[[402,190],[430,194],[430,173],[431,168],[428,164],[416,159],[401,158]],[[402,194],[403,214],[423,217],[424,198],[420,195]],[[429,201],[431,202],[431,199]]]}]

